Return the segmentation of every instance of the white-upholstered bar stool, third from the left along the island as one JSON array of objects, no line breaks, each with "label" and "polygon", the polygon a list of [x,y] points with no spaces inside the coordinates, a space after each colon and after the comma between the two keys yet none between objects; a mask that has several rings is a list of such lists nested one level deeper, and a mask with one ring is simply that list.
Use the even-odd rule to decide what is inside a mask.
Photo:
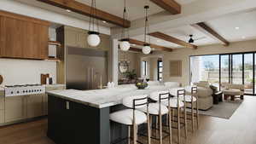
[{"label": "white-upholstered bar stool, third from the left along the island", "polygon": [[[185,138],[187,138],[187,114],[185,111],[186,103],[180,100],[180,96],[185,95],[185,90],[184,89],[171,89],[170,94],[173,96],[169,101],[163,101],[162,103],[168,107],[170,103],[170,108],[172,112],[172,117],[175,117],[174,111],[177,111],[177,121],[172,118],[172,122],[177,123],[177,128],[172,127],[174,129],[177,129],[177,141],[180,143],[181,141],[181,136],[180,136],[180,131],[181,131],[181,119],[183,118],[183,127],[184,127],[184,133],[185,133]],[[175,96],[177,95],[177,96]],[[183,111],[182,111],[183,110]],[[181,117],[181,112],[183,112],[183,117]]]}]

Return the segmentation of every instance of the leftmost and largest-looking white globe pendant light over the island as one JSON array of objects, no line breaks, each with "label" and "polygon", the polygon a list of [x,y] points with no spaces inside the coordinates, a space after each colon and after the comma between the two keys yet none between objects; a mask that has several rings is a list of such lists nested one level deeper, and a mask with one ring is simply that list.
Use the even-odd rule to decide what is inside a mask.
[{"label": "leftmost and largest-looking white globe pendant light over the island", "polygon": [[90,24],[89,24],[89,36],[87,37],[87,42],[90,46],[96,47],[101,43],[101,38],[99,37],[99,24],[96,17],[96,0],[91,0],[90,5]]}]

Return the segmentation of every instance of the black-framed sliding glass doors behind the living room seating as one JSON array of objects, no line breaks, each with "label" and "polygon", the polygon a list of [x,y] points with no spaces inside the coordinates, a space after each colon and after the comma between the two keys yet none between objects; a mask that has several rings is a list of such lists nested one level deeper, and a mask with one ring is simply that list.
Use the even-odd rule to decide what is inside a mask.
[{"label": "black-framed sliding glass doors behind the living room seating", "polygon": [[208,81],[218,87],[244,84],[245,94],[255,95],[255,57],[255,52],[191,56],[190,82]]}]

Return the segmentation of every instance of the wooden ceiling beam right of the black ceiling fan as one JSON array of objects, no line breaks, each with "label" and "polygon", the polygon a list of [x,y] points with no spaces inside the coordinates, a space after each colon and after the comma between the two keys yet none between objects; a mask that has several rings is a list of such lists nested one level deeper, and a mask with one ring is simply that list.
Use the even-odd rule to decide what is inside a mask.
[{"label": "wooden ceiling beam right of the black ceiling fan", "polygon": [[230,45],[230,42],[228,42],[224,37],[220,36],[218,32],[215,32],[210,26],[207,26],[206,23],[200,22],[192,26],[194,26],[196,29],[200,30],[201,32],[204,32],[205,34],[207,34],[207,36],[212,37],[218,40],[219,42],[223,43],[224,46]]}]

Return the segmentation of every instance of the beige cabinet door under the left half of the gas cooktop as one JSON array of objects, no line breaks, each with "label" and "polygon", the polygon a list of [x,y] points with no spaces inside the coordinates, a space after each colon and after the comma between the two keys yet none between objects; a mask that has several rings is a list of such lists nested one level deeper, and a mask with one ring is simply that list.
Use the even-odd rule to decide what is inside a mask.
[{"label": "beige cabinet door under the left half of the gas cooktop", "polygon": [[26,118],[26,96],[6,97],[4,115],[5,123]]}]

